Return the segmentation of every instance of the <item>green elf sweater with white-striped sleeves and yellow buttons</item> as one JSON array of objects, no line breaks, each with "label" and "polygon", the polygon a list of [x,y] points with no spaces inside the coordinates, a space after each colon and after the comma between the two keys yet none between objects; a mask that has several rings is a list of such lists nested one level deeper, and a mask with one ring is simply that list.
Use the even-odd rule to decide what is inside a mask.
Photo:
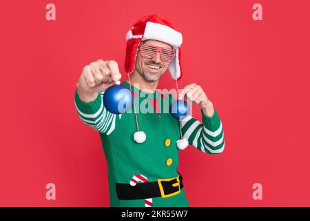
[{"label": "green elf sweater with white-striped sleeves and yellow buttons", "polygon": [[[129,88],[129,84],[122,84]],[[147,177],[149,182],[178,176],[178,151],[176,140],[180,139],[179,122],[171,114],[163,112],[165,102],[174,101],[169,93],[145,93],[132,86],[134,103],[140,131],[147,139],[142,144],[134,142],[136,121],[133,108],[127,113],[115,115],[103,106],[103,93],[93,102],[83,102],[75,93],[76,110],[82,122],[99,131],[108,165],[108,180],[111,206],[144,206],[144,200],[119,200],[116,183],[130,183],[136,174]],[[147,113],[139,107],[149,110]],[[155,108],[154,108],[155,106]],[[169,105],[168,105],[169,106]],[[158,109],[159,108],[159,109]],[[158,115],[158,109],[161,113]],[[222,122],[215,111],[212,117],[201,111],[203,124],[188,115],[181,121],[183,136],[189,144],[203,153],[222,153],[225,147]],[[169,160],[169,163],[167,161]],[[168,198],[154,198],[153,206],[188,206],[183,188],[180,193]]]}]

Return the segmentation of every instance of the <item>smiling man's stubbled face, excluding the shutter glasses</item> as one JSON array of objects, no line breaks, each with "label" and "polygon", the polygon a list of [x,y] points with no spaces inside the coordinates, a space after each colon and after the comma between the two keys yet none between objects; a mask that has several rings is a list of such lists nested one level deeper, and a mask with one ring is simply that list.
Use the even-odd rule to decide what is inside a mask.
[{"label": "smiling man's stubbled face, excluding the shutter glasses", "polygon": [[[143,44],[151,44],[153,46],[172,49],[172,46],[165,44],[162,41],[147,40],[141,42],[140,46],[143,46]],[[161,78],[161,75],[165,73],[168,66],[169,62],[162,61],[159,52],[157,52],[153,58],[147,59],[142,57],[140,51],[138,51],[136,57],[136,71],[145,79],[145,81],[158,81]]]}]

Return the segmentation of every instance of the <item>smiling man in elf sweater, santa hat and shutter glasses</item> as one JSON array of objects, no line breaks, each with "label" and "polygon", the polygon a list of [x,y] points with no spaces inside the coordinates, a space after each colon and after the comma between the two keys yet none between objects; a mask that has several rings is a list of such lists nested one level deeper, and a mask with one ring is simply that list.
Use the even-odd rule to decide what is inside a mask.
[{"label": "smiling man in elf sweater, santa hat and shutter glasses", "polygon": [[[222,122],[197,84],[185,86],[178,97],[187,97],[201,108],[203,123],[190,115],[175,119],[164,111],[164,103],[170,105],[175,98],[159,93],[158,81],[169,69],[178,87],[182,75],[182,35],[172,23],[157,15],[145,16],[126,39],[128,80],[122,85],[134,94],[130,111],[115,115],[103,106],[105,90],[121,79],[116,61],[99,59],[85,66],[74,97],[81,120],[100,132],[111,206],[188,206],[183,178],[177,172],[178,151],[191,144],[204,153],[223,152]],[[141,111],[145,103],[155,113]]]}]

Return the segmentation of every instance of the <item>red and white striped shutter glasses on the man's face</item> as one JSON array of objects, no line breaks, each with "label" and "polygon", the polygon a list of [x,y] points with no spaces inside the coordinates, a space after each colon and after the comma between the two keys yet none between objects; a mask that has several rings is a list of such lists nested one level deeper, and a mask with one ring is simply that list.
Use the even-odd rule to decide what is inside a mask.
[{"label": "red and white striped shutter glasses on the man's face", "polygon": [[148,59],[153,58],[159,51],[161,55],[161,60],[164,62],[172,61],[174,59],[174,56],[176,55],[174,50],[172,49],[161,48],[150,44],[144,44],[143,46],[139,46],[138,48],[140,50],[140,55]]}]

